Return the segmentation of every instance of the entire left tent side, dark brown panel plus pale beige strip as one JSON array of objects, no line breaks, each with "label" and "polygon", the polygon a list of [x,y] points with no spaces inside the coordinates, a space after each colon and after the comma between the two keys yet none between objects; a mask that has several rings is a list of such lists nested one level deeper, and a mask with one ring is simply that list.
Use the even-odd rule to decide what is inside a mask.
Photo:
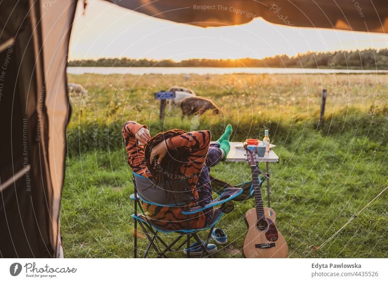
[{"label": "entire left tent side, dark brown panel plus pale beige strip", "polygon": [[0,257],[63,257],[66,63],[77,1],[50,3],[0,3]]}]

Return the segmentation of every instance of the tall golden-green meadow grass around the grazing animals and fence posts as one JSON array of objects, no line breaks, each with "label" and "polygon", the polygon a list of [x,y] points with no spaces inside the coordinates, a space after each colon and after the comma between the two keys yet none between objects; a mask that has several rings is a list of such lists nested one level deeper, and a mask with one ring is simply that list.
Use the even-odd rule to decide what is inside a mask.
[{"label": "tall golden-green meadow grass around the grazing animals and fence posts", "polygon": [[[233,75],[209,80],[193,76],[157,75],[69,76],[81,83],[88,94],[71,94],[73,114],[68,127],[69,154],[90,149],[118,148],[121,127],[131,119],[149,126],[152,134],[173,127],[185,130],[210,128],[219,135],[228,123],[235,128],[233,140],[262,135],[270,128],[274,139],[287,140],[299,127],[314,127],[318,122],[321,92],[328,89],[325,134],[353,131],[359,135],[376,132],[387,114],[385,75]],[[333,85],[333,81],[335,84]],[[222,109],[213,116],[180,119],[179,109],[167,109],[159,121],[159,102],[153,93],[172,85],[191,87],[201,96],[213,99]],[[295,127],[297,126],[297,127]],[[292,130],[291,130],[292,129]]]}]

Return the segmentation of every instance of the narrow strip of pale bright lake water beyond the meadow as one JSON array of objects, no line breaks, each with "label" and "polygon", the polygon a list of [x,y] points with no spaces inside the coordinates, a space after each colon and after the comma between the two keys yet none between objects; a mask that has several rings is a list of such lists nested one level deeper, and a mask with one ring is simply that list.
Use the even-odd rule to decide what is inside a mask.
[{"label": "narrow strip of pale bright lake water beyond the meadow", "polygon": [[246,74],[360,74],[360,73],[388,73],[388,70],[353,70],[353,69],[316,69],[316,68],[265,68],[265,67],[67,67],[68,74],[101,74],[101,75],[224,75],[235,73]]}]

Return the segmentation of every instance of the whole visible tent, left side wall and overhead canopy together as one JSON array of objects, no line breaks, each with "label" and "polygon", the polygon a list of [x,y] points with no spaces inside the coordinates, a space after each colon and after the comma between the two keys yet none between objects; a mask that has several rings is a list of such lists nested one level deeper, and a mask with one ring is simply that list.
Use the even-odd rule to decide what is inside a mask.
[{"label": "whole visible tent, left side wall and overhead canopy together", "polygon": [[[388,30],[386,0],[110,0],[202,27],[255,17],[281,25]],[[63,257],[66,65],[77,0],[0,1],[0,257]],[[221,7],[221,8],[220,8]]]}]

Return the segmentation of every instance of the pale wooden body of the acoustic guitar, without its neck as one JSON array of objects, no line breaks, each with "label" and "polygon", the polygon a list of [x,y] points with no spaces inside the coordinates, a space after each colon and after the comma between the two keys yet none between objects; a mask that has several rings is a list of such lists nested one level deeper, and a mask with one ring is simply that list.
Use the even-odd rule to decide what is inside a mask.
[{"label": "pale wooden body of the acoustic guitar, without its neck", "polygon": [[245,213],[248,233],[244,240],[244,257],[287,257],[288,247],[286,240],[275,226],[275,211],[272,208],[264,207],[264,214],[265,219],[258,220],[256,208],[251,208]]}]

